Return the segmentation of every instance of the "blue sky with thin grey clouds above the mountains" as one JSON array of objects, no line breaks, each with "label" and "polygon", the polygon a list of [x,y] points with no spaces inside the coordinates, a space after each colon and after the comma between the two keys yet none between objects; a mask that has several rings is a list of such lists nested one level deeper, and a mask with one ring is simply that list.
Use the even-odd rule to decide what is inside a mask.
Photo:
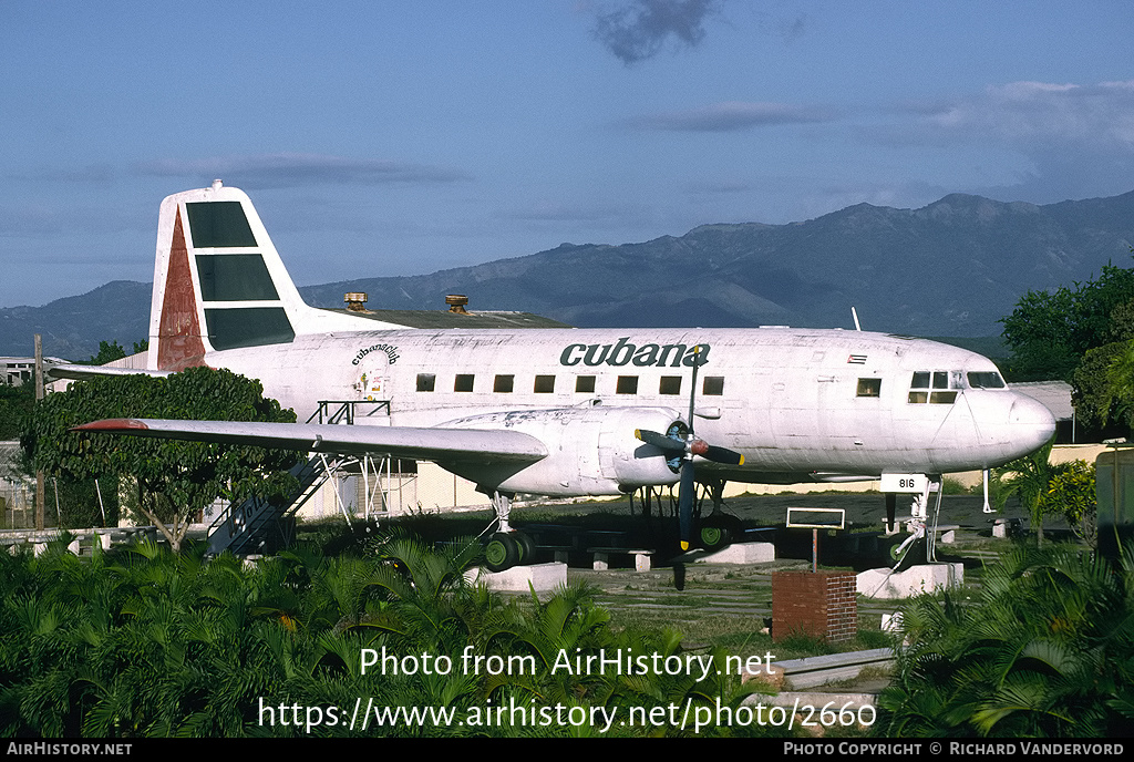
[{"label": "blue sky with thin grey clouds above the mountains", "polygon": [[5,0],[0,306],[150,280],[161,198],[215,177],[299,285],[1125,193],[1132,22],[1122,0]]}]

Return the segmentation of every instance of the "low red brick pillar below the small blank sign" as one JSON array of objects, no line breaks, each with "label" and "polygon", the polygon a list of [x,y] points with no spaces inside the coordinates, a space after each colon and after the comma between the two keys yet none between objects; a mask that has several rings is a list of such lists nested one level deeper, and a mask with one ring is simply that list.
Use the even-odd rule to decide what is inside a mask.
[{"label": "low red brick pillar below the small blank sign", "polygon": [[772,640],[802,633],[827,641],[858,634],[854,572],[773,572]]}]

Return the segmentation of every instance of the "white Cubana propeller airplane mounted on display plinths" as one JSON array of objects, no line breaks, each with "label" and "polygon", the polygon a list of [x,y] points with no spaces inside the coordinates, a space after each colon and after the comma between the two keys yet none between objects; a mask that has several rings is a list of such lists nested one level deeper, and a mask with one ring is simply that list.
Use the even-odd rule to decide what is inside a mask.
[{"label": "white Cubana propeller airplane mounted on display plinths", "polygon": [[[882,479],[892,526],[895,492],[915,493],[915,506],[921,493],[924,506],[941,474],[1002,465],[1055,431],[1051,413],[1013,391],[991,361],[904,336],[489,329],[460,315],[448,322],[456,327],[412,328],[393,312],[311,307],[249,197],[220,180],[162,202],[151,307],[141,372],[229,369],[259,379],[299,420],[325,400],[374,400],[381,412],[356,425],[113,420],[79,429],[432,460],[491,496],[494,569],[531,552],[509,524],[517,493],[678,485],[685,550],[696,535],[695,482]],[[701,527],[709,544],[720,537],[712,524]]]}]

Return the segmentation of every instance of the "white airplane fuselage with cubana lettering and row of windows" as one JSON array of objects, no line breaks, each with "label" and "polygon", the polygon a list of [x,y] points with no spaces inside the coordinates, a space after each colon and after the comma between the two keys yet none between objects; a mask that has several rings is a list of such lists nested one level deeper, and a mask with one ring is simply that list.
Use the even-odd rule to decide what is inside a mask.
[{"label": "white airplane fuselage with cubana lettering and row of windows", "polygon": [[[881,473],[987,468],[1047,442],[1035,400],[978,388],[987,358],[923,339],[840,330],[406,329],[301,335],[214,352],[209,364],[259,378],[302,422],[322,400],[375,405],[357,423],[434,426],[489,413],[662,408],[742,452],[743,467],[699,462],[734,481],[838,481]],[[979,374],[979,375],[971,375]],[[975,380],[976,383],[972,381]]]}]

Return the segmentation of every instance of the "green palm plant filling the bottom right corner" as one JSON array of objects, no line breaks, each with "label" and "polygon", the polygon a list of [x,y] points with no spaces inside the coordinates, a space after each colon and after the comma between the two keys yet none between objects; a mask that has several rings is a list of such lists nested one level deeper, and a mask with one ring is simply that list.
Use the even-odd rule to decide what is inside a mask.
[{"label": "green palm plant filling the bottom right corner", "polygon": [[1016,549],[980,602],[921,596],[903,615],[880,733],[1097,736],[1128,727],[1134,574],[1074,550]]}]

